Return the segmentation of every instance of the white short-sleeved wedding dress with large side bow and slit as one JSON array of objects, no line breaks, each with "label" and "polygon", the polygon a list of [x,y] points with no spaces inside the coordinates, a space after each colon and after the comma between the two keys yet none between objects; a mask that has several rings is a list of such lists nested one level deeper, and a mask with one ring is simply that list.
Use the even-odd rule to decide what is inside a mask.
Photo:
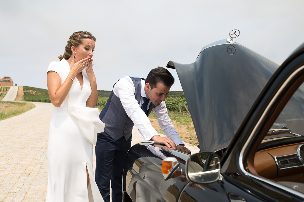
[{"label": "white short-sleeved wedding dress with large side bow and slit", "polygon": [[[57,72],[63,84],[70,65],[62,59],[51,62],[47,71]],[[96,145],[96,135],[103,132],[105,124],[99,120],[97,108],[85,107],[92,90],[86,68],[82,75],[82,90],[75,78],[61,106],[53,106],[47,148],[47,202],[104,201],[95,183],[92,144]],[[88,187],[86,167],[90,178]]]}]

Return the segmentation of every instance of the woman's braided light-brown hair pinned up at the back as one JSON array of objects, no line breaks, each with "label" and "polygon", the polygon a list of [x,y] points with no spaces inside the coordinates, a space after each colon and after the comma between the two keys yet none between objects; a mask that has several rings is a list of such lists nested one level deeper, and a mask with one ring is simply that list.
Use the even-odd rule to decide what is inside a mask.
[{"label": "woman's braided light-brown hair pinned up at the back", "polygon": [[72,46],[74,46],[75,48],[77,48],[81,42],[83,38],[90,38],[94,41],[96,41],[96,38],[88,31],[76,31],[74,32],[74,34],[72,36],[70,36],[70,39],[67,41],[67,45],[65,46],[65,52],[62,55],[58,56],[58,58],[60,59],[60,61],[64,58],[66,60],[68,60],[72,53]]}]

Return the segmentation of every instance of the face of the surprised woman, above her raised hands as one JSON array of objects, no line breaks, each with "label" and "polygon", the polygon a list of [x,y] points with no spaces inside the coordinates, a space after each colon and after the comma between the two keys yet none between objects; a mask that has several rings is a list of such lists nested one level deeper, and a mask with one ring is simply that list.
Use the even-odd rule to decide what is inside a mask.
[{"label": "face of the surprised woman, above her raised hands", "polygon": [[95,41],[89,38],[82,39],[82,43],[75,48],[76,62],[84,58],[92,58],[94,55]]}]

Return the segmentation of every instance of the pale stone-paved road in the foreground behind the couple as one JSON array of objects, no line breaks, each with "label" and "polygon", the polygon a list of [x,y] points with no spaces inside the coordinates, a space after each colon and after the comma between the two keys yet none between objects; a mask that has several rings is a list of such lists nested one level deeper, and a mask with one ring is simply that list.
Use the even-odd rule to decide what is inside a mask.
[{"label": "pale stone-paved road in the foreground behind the couple", "polygon": [[[33,102],[35,108],[0,121],[0,201],[45,201],[47,143],[52,104]],[[145,141],[133,127],[132,145]],[[196,147],[187,146],[192,153]],[[93,150],[94,152],[95,150]],[[93,169],[95,170],[95,152]]]}]

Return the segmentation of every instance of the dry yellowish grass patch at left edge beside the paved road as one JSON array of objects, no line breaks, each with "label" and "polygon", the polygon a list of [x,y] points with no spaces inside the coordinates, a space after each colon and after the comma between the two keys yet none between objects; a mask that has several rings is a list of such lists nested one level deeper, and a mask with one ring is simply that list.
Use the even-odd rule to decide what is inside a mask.
[{"label": "dry yellowish grass patch at left edge beside the paved road", "polygon": [[34,107],[35,105],[27,102],[0,101],[0,120],[22,114],[30,109],[33,109]]}]

